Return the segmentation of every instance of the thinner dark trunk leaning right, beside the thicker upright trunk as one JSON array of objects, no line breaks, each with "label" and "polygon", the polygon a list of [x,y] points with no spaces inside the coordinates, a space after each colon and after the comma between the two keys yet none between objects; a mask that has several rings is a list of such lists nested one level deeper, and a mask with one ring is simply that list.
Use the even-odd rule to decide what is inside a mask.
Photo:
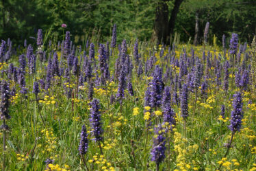
[{"label": "thinner dark trunk leaning right, beside the thicker upright trunk", "polygon": [[175,28],[175,19],[177,17],[177,14],[179,12],[179,6],[181,5],[181,3],[183,2],[183,0],[175,0],[175,6],[172,9],[172,12],[170,14],[170,19],[168,22],[168,32],[167,32],[167,41],[166,43],[170,43],[170,36],[173,34],[173,30]]}]

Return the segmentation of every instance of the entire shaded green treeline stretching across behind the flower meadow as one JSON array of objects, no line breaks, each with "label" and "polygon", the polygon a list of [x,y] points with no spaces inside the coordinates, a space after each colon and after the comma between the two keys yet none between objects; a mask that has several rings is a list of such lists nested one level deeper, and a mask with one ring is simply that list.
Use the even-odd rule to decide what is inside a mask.
[{"label": "entire shaded green treeline stretching across behind the flower meadow", "polygon": [[[175,25],[172,24],[172,32],[167,31],[167,36],[177,33],[180,41],[193,43],[197,33],[196,44],[202,43],[207,21],[209,43],[214,35],[220,43],[222,34],[231,32],[237,32],[242,41],[251,42],[256,27],[253,0],[1,0],[0,7],[0,37],[11,38],[14,43],[36,36],[39,28],[51,32],[49,38],[53,41],[61,40],[66,30],[71,31],[75,43],[92,36],[106,41],[114,23],[118,26],[118,38],[163,41],[163,34],[157,35],[157,29],[170,30],[170,23],[166,22],[170,17],[175,19]],[[157,16],[166,21],[159,25]],[[67,27],[62,28],[62,23]]]}]

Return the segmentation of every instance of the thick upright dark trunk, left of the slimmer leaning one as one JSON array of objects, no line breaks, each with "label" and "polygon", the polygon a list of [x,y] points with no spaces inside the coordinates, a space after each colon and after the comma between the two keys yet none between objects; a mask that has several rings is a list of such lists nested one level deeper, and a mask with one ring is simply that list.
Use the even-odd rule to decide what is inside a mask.
[{"label": "thick upright dark trunk, left of the slimmer leaning one", "polygon": [[168,0],[162,0],[157,3],[155,11],[154,30],[157,36],[157,44],[166,44],[166,36],[168,32]]}]

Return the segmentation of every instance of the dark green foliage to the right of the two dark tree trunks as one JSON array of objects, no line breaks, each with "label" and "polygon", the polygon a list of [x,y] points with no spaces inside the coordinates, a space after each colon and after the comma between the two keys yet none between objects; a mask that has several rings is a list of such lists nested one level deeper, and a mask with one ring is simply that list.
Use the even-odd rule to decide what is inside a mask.
[{"label": "dark green foliage to the right of the two dark tree trunks", "polygon": [[[195,13],[199,12],[199,26],[201,30],[201,37],[205,23],[210,23],[210,36],[214,34],[218,37],[219,44],[222,40],[222,35],[229,35],[232,32],[237,32],[242,41],[251,42],[250,35],[255,33],[255,10],[256,3],[254,1],[246,0],[190,0],[184,1],[181,4],[179,14],[177,16],[176,32],[181,34],[182,41],[188,41],[188,35],[185,34],[182,27],[185,27],[194,36]],[[210,42],[213,40],[210,39]]]}]

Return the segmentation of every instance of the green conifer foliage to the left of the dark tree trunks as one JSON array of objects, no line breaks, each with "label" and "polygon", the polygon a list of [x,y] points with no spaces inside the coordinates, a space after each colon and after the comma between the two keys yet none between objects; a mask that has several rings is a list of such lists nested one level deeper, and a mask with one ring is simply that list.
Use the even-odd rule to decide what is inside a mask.
[{"label": "green conifer foliage to the left of the dark tree trunks", "polygon": [[[51,28],[51,39],[63,36],[71,30],[73,39],[85,41],[88,34],[100,33],[99,39],[111,36],[112,25],[118,25],[120,38],[130,40],[135,37],[144,40],[151,38],[155,17],[155,2],[151,1],[78,1],[78,0],[35,0],[12,1],[1,3],[5,11],[5,27],[1,27],[1,38],[21,38],[36,36],[39,28],[46,31]],[[12,14],[12,15],[10,15]],[[3,19],[0,19],[3,25]],[[61,27],[66,23],[66,29]],[[12,30],[12,32],[10,32]]]}]

